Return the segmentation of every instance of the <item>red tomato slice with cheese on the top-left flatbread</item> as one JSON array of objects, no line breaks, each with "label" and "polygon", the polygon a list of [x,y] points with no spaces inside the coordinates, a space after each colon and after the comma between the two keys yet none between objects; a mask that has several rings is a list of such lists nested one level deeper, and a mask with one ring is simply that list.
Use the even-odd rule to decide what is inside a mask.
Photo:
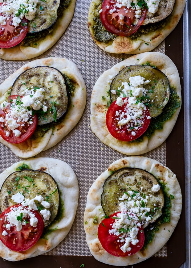
[{"label": "red tomato slice with cheese on the top-left flatbread", "polygon": [[[0,6],[3,3],[0,3]],[[0,16],[4,14],[0,13]],[[12,25],[12,17],[6,19],[6,25],[0,24],[0,48],[11,48],[19,44],[28,32],[28,20],[22,19],[18,27]]]}]

